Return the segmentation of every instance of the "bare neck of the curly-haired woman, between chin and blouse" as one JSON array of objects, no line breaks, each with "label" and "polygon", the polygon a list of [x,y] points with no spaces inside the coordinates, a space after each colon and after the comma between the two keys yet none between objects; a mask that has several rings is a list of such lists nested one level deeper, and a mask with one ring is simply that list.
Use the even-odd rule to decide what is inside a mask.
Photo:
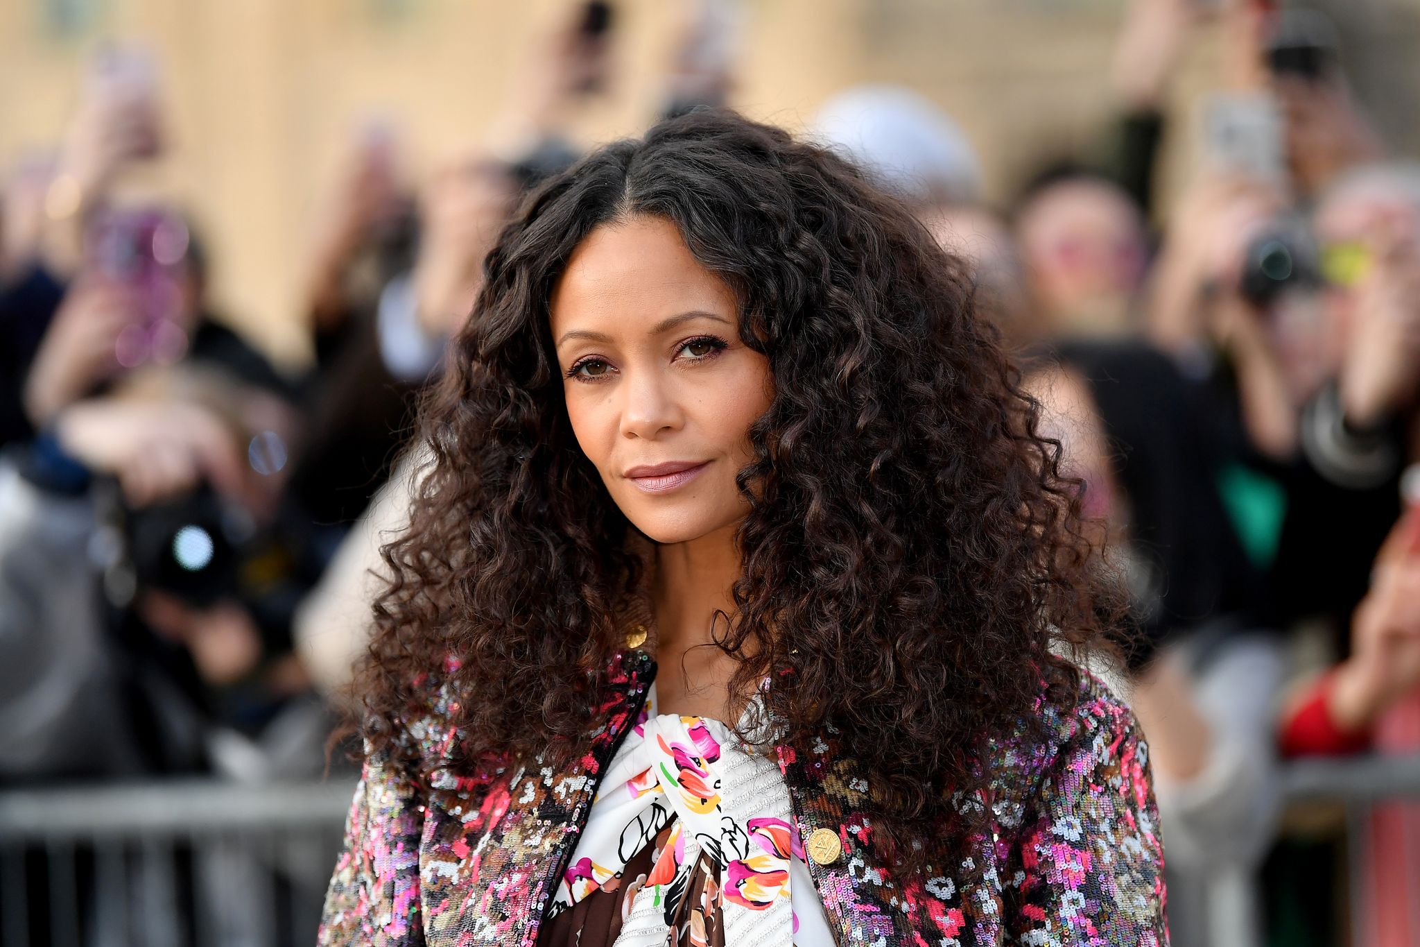
[{"label": "bare neck of the curly-haired woman, between chin and blouse", "polygon": [[716,613],[734,615],[730,589],[740,576],[737,528],[731,524],[689,542],[656,545],[650,593],[657,713],[736,720],[738,701],[728,693],[736,662],[713,642],[726,632],[723,618],[716,625]]}]

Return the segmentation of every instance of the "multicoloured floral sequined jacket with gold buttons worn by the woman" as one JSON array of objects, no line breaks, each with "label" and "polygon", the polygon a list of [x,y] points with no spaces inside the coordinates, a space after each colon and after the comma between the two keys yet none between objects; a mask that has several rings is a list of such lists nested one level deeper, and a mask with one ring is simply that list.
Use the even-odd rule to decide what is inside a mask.
[{"label": "multicoloured floral sequined jacket with gold buttons worn by the woman", "polygon": [[[371,755],[320,944],[534,947],[599,774],[653,676],[643,652],[616,659],[605,726],[561,772],[534,762],[456,775],[440,765],[454,734],[437,717],[410,728],[429,761],[420,775]],[[1133,716],[1088,674],[1075,707],[1041,701],[1038,713],[1048,740],[1018,727],[993,747],[990,833],[910,883],[875,862],[862,814],[870,777],[832,735],[809,754],[777,750],[839,947],[1167,944],[1159,814]]]}]

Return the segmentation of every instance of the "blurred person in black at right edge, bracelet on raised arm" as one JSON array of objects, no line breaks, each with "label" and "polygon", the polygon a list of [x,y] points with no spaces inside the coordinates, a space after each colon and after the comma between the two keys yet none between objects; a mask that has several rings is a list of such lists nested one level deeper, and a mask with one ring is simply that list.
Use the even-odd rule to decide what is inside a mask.
[{"label": "blurred person in black at right edge, bracelet on raised arm", "polygon": [[1420,169],[1346,172],[1322,195],[1312,227],[1322,371],[1298,420],[1306,473],[1289,487],[1298,515],[1284,531],[1292,555],[1279,569],[1304,613],[1343,629],[1370,584],[1366,564],[1400,514],[1400,476],[1420,434]]}]

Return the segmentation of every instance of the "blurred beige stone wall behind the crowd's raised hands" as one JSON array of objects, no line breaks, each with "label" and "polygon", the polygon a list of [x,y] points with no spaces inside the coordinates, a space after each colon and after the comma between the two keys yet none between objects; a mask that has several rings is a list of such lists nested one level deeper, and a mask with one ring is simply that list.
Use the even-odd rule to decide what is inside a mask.
[{"label": "blurred beige stone wall behind the crowd's raised hands", "polygon": [[[372,115],[396,116],[416,169],[476,143],[511,67],[568,0],[87,0],[94,17],[65,37],[47,30],[47,1],[0,0],[0,163],[55,139],[98,41],[149,43],[173,122],[162,186],[193,209],[212,246],[222,308],[300,361],[311,219],[351,133]],[[585,116],[578,132],[589,142],[638,131],[656,104],[666,1],[618,9],[618,95]],[[1119,0],[744,9],[741,108],[794,126],[851,82],[914,85],[978,142],[995,195],[1038,155],[1086,141],[1112,106]],[[1208,57],[1204,44],[1186,85],[1207,81]]]}]

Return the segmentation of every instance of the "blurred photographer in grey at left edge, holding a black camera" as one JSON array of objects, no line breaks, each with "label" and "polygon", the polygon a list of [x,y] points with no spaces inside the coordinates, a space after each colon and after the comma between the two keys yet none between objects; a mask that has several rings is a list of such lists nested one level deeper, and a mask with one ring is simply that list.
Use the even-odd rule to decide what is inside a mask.
[{"label": "blurred photographer in grey at left edge, holding a black camera", "polygon": [[241,565],[229,547],[277,514],[281,474],[260,450],[293,423],[280,396],[195,359],[65,406],[11,453],[6,779],[209,765],[212,689],[246,679],[280,637],[229,598]]}]

